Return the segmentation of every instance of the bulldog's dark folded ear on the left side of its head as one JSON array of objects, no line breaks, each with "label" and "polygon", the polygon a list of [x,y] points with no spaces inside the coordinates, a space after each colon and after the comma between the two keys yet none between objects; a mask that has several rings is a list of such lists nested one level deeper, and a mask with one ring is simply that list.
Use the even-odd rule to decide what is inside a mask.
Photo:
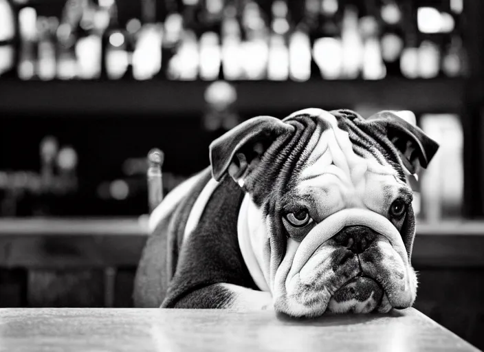
[{"label": "bulldog's dark folded ear on the left side of its head", "polygon": [[219,181],[225,172],[243,186],[248,173],[260,162],[263,153],[279,135],[294,126],[272,116],[251,118],[210,144],[212,176]]}]

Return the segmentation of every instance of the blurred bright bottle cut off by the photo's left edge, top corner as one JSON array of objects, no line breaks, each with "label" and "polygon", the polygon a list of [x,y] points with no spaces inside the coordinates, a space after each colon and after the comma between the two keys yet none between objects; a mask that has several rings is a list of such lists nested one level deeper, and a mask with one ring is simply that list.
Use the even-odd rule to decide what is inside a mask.
[{"label": "blurred bright bottle cut off by the photo's left edge, top corner", "polygon": [[16,40],[14,10],[7,0],[0,0],[0,77],[14,68]]}]

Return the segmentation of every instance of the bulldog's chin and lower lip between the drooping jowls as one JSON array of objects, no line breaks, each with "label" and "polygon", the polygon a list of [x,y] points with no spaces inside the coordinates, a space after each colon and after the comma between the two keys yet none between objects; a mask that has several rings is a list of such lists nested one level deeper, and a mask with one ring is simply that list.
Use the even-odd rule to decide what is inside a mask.
[{"label": "bulldog's chin and lower lip between the drooping jowls", "polygon": [[336,291],[327,307],[335,314],[366,314],[375,311],[382,303],[384,290],[373,278],[356,276]]}]

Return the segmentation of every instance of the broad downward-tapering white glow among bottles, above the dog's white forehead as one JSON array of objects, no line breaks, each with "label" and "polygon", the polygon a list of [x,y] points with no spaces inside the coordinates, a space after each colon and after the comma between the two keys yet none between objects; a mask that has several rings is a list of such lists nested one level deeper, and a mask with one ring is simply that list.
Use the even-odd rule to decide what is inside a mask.
[{"label": "broad downward-tapering white glow among bottles, above the dog's white forehead", "polygon": [[342,45],[334,38],[320,38],[314,41],[314,61],[318,65],[322,78],[337,79],[341,74]]}]

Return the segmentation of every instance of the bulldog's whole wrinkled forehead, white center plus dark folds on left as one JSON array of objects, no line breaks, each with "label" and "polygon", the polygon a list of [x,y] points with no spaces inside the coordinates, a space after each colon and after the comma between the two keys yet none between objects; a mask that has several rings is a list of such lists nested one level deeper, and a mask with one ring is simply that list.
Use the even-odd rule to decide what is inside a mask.
[{"label": "bulldog's whole wrinkled forehead, white center plus dark folds on left", "polygon": [[263,158],[260,187],[254,193],[259,206],[278,208],[277,203],[301,187],[318,192],[358,188],[360,198],[366,197],[364,190],[376,190],[391,194],[391,199],[397,188],[407,186],[399,161],[391,159],[395,153],[384,145],[388,138],[378,129],[367,129],[365,120],[352,111],[333,115],[303,109],[283,121],[292,124],[295,133]]}]

